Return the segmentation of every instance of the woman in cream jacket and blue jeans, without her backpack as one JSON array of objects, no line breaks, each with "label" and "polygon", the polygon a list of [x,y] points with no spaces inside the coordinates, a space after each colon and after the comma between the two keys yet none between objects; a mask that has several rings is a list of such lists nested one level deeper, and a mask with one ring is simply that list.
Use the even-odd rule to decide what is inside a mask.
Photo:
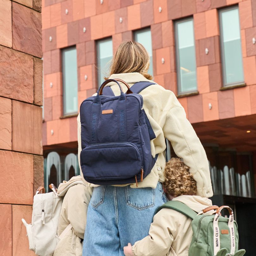
[{"label": "woman in cream jacket and blue jeans, without her backpack", "polygon": [[[112,59],[108,78],[122,79],[130,87],[136,82],[153,82],[152,76],[147,73],[149,61],[149,54],[141,44],[125,41],[120,44]],[[111,86],[114,94],[120,95],[120,88],[114,83],[106,86]],[[122,83],[121,87],[125,92],[127,88]],[[150,141],[152,157],[155,158],[158,154],[156,163],[138,184],[88,185],[93,187],[93,193],[88,206],[84,256],[123,255],[123,247],[129,241],[134,243],[148,234],[155,210],[167,200],[162,189],[166,163],[165,138],[172,143],[176,154],[190,166],[198,182],[198,195],[212,196],[210,171],[204,148],[174,93],[153,84],[139,94],[142,95],[143,108],[156,136]],[[128,109],[126,113],[129,113]],[[84,147],[82,148],[81,143],[80,115],[77,121],[78,160],[81,170],[80,153]]]}]

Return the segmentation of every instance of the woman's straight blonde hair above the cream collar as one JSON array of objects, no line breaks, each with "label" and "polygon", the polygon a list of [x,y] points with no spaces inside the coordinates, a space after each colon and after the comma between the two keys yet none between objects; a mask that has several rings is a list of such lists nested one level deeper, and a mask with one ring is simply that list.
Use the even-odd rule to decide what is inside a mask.
[{"label": "woman's straight blonde hair above the cream collar", "polygon": [[[110,65],[110,76],[112,74],[138,72],[152,80],[153,77],[148,74],[149,64],[149,53],[145,47],[138,42],[126,40],[118,46],[113,56]],[[105,77],[105,79],[108,78]]]}]

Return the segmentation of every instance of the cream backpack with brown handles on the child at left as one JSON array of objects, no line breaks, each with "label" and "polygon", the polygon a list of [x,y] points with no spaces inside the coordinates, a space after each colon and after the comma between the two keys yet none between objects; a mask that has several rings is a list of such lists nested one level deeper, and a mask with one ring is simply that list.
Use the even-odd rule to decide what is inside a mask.
[{"label": "cream backpack with brown handles on the child at left", "polygon": [[27,229],[29,249],[38,256],[52,256],[54,250],[67,232],[72,228],[69,224],[60,236],[57,236],[61,205],[65,194],[71,186],[84,183],[74,181],[62,192],[57,194],[57,188],[51,184],[53,192],[45,193],[44,187],[39,187],[34,195],[31,224],[22,219]]}]

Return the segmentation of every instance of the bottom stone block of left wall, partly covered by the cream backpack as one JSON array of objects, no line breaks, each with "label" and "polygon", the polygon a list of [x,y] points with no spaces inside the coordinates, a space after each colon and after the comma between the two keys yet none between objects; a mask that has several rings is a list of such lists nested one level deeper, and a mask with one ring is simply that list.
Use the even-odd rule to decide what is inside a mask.
[{"label": "bottom stone block of left wall, partly covered by the cream backpack", "polygon": [[35,256],[29,250],[26,227],[21,222],[21,218],[24,218],[27,223],[31,223],[31,216],[31,205],[12,205],[12,255]]}]

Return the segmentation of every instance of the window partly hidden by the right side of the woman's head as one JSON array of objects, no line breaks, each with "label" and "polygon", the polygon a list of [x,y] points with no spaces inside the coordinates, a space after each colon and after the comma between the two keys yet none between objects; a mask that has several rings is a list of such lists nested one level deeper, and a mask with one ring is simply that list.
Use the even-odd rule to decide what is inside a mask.
[{"label": "window partly hidden by the right side of the woman's head", "polygon": [[142,44],[149,53],[150,65],[148,73],[153,76],[153,55],[152,55],[152,41],[150,28],[140,29],[134,32],[134,40]]}]

